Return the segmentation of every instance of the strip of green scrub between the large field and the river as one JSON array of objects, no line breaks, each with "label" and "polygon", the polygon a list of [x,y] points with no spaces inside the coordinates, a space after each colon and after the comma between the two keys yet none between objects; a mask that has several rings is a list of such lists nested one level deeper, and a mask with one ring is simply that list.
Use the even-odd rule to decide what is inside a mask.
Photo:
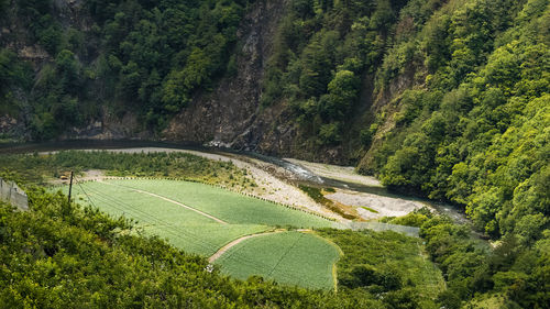
[{"label": "strip of green scrub between the large field and the river", "polygon": [[[223,184],[235,189],[255,186],[246,170],[231,162],[173,153],[113,153],[108,151],[62,151],[48,155],[18,154],[0,156],[4,177],[46,184],[70,170],[102,169],[109,176],[150,176],[183,178],[206,184]],[[10,172],[12,175],[7,175]]]}]

